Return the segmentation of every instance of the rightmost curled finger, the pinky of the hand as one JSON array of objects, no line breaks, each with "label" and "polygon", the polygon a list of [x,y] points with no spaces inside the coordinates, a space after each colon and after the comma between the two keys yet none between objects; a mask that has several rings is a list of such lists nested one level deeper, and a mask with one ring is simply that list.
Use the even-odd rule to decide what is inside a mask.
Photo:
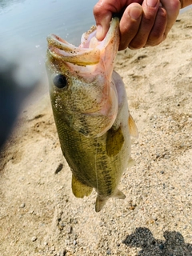
[{"label": "rightmost curled finger, the pinky of the hand", "polygon": [[162,6],[165,7],[167,13],[167,24],[164,37],[166,38],[167,34],[169,33],[171,27],[174,25],[178,17],[178,13],[181,7],[181,2],[179,0],[161,0]]}]

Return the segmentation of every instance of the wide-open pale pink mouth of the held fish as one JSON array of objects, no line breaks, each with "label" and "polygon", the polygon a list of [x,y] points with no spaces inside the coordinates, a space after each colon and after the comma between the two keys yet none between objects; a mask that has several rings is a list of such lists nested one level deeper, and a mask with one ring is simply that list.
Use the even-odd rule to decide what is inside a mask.
[{"label": "wide-open pale pink mouth of the held fish", "polygon": [[96,26],[82,34],[82,43],[80,46],[74,46],[55,34],[47,37],[48,50],[50,54],[63,62],[70,62],[78,66],[87,66],[98,64],[101,60],[102,52],[106,46],[113,40],[114,31],[118,26],[118,18],[113,18],[106,38],[98,41],[96,38]]}]

